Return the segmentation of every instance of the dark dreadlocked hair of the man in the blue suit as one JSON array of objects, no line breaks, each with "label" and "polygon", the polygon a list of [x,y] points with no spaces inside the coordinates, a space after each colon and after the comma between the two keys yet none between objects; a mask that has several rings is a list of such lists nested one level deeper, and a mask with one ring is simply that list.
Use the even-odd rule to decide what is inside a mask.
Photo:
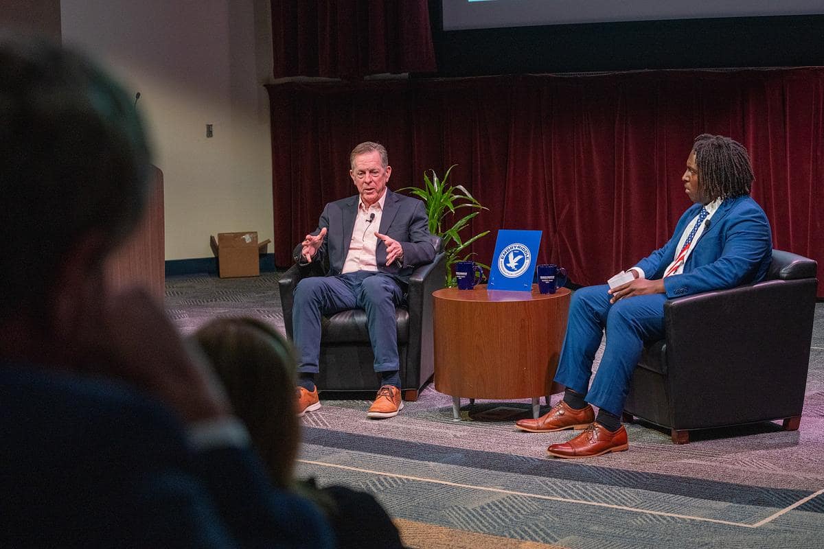
[{"label": "dark dreadlocked hair of the man in the blue suit", "polygon": [[698,181],[706,198],[735,198],[750,193],[750,157],[744,146],[729,137],[702,133],[693,145]]}]

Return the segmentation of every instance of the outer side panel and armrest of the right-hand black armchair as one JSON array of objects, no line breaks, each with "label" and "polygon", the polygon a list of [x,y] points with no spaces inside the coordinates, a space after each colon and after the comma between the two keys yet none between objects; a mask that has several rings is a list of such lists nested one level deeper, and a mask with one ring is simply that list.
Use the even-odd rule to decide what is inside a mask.
[{"label": "outer side panel and armrest of the right-hand black armchair", "polygon": [[671,398],[700,399],[695,409],[712,409],[719,426],[800,414],[816,286],[815,278],[771,280],[667,301]]}]

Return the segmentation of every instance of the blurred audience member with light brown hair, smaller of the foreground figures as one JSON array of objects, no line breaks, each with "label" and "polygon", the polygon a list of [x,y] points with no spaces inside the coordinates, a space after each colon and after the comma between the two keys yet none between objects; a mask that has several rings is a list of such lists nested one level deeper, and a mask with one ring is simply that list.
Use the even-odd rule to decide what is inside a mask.
[{"label": "blurred audience member with light brown hair, smaller of the foreground figures", "polygon": [[397,528],[372,495],[345,486],[318,489],[293,476],[300,439],[292,345],[257,319],[217,319],[194,333],[246,422],[275,486],[307,496],[330,519],[338,547],[402,547]]}]

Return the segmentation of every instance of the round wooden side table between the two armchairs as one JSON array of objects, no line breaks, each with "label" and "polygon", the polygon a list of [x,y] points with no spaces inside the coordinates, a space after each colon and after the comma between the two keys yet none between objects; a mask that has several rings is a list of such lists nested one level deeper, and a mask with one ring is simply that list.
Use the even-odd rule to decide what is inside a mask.
[{"label": "round wooden side table between the two armchairs", "polygon": [[549,395],[566,333],[570,292],[472,290],[433,292],[435,388],[452,395],[460,420],[461,397],[532,399]]}]

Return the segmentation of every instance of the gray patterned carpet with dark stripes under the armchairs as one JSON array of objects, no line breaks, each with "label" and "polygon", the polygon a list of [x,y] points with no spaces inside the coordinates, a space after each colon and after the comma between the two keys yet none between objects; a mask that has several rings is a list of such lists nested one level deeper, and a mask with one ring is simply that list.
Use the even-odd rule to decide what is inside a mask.
[{"label": "gray patterned carpet with dark stripes under the armchairs", "polygon": [[[277,278],[170,277],[166,308],[183,333],[237,315],[283,330]],[[824,546],[821,303],[794,432],[765,422],[699,431],[677,446],[634,424],[628,452],[568,462],[544,452],[569,432],[513,430],[527,401],[476,401],[459,422],[431,385],[388,421],[367,420],[367,401],[322,403],[304,419],[299,473],[372,492],[409,547]]]}]

